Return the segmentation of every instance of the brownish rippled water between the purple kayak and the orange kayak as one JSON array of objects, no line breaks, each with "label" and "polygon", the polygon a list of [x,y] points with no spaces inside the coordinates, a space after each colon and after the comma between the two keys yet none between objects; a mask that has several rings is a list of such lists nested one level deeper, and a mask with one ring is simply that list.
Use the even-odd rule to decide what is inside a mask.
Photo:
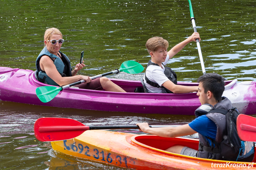
[{"label": "brownish rippled water between the purple kayak and the orange kayak", "polygon": [[[51,149],[50,143],[38,141],[33,130],[34,122],[40,117],[72,118],[88,126],[135,125],[137,122],[185,124],[194,118],[182,115],[63,110],[13,102],[0,102],[0,109],[0,169],[116,169],[114,166],[57,153]],[[141,133],[138,130],[125,132]]]}]

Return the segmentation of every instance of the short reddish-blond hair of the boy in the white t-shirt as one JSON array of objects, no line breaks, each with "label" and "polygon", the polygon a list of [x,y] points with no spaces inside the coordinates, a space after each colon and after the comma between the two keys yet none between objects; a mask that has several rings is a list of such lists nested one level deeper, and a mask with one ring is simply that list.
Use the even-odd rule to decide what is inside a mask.
[{"label": "short reddish-blond hair of the boy in the white t-shirt", "polygon": [[151,51],[153,52],[157,51],[159,47],[167,49],[168,46],[169,46],[168,41],[163,39],[162,37],[152,37],[148,39],[146,43],[146,48],[149,54]]}]

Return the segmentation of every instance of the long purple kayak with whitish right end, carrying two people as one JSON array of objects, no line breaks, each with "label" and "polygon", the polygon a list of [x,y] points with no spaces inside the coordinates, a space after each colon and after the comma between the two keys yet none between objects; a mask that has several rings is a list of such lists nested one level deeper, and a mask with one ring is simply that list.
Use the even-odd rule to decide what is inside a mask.
[{"label": "long purple kayak with whitish right end, carrying two people", "polygon": [[[194,115],[195,109],[201,105],[196,93],[135,93],[136,88],[143,88],[140,81],[110,80],[129,93],[70,87],[59,92],[53,100],[43,103],[36,95],[36,88],[48,85],[37,81],[33,70],[0,67],[0,100],[61,108],[181,115]],[[223,96],[228,97],[240,113],[256,114],[255,83],[226,81]],[[198,85],[194,82],[178,84]]]}]

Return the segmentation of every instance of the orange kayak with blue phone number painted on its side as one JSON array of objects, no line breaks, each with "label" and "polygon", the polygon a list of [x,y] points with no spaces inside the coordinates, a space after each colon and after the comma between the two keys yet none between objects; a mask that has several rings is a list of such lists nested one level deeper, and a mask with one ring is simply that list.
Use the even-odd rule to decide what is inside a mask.
[{"label": "orange kayak with blue phone number painted on its side", "polygon": [[256,169],[255,162],[195,158],[165,151],[173,145],[198,149],[198,140],[184,137],[87,130],[70,140],[54,141],[54,150],[71,156],[100,161],[128,169]]}]

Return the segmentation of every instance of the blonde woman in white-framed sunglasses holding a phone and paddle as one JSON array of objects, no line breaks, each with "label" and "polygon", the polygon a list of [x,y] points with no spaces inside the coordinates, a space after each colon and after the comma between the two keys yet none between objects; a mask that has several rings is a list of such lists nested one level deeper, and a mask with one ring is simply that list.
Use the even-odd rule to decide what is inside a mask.
[{"label": "blonde woman in white-framed sunglasses holding a phone and paddle", "polygon": [[85,83],[76,85],[76,87],[91,90],[103,88],[106,91],[125,92],[106,77],[91,80],[89,76],[76,75],[85,64],[78,63],[72,70],[69,58],[60,51],[63,42],[62,34],[57,28],[49,28],[45,31],[44,48],[36,59],[36,69],[40,82],[63,86],[85,80]]}]

